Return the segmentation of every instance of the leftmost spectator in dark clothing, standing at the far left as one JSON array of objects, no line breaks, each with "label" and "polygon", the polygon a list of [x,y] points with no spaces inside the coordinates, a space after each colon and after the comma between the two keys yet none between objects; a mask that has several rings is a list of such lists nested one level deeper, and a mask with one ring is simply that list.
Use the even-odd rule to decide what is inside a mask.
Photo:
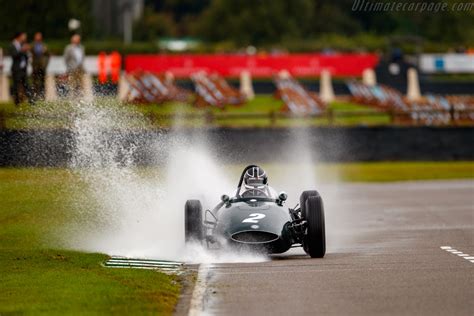
[{"label": "leftmost spectator in dark clothing, standing at the far left", "polygon": [[10,56],[12,57],[12,95],[15,105],[20,104],[24,97],[30,102],[30,89],[28,87],[28,51],[30,46],[26,43],[26,33],[18,32],[10,46]]}]

